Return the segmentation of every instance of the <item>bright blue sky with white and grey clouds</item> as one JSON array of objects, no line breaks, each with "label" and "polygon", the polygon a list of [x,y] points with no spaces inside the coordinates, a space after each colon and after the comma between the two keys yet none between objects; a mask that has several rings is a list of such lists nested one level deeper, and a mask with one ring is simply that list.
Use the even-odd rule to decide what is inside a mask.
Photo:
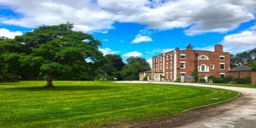
[{"label": "bright blue sky with white and grey clouds", "polygon": [[13,38],[41,25],[74,23],[102,42],[104,54],[124,58],[184,49],[236,53],[256,47],[256,1],[98,0],[0,1],[0,36]]}]

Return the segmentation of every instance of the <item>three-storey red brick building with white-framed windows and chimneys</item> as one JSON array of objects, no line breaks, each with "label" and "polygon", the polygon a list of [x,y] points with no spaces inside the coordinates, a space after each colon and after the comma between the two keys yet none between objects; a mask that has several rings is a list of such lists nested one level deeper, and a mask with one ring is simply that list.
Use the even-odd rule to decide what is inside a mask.
[{"label": "three-storey red brick building with white-framed windows and chimneys", "polygon": [[209,76],[225,77],[230,70],[230,54],[223,52],[223,45],[216,44],[214,52],[186,49],[159,54],[152,58],[152,80],[175,81],[181,76],[192,76],[198,69],[198,77],[209,82]]}]

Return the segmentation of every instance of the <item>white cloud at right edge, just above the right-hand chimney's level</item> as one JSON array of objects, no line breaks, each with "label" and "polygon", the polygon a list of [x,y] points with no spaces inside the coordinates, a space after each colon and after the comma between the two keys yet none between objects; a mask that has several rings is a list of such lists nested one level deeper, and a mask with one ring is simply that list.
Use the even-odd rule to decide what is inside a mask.
[{"label": "white cloud at right edge, just above the right-hand chimney's level", "polygon": [[232,35],[227,35],[221,44],[230,52],[241,52],[256,47],[256,31],[243,31]]}]

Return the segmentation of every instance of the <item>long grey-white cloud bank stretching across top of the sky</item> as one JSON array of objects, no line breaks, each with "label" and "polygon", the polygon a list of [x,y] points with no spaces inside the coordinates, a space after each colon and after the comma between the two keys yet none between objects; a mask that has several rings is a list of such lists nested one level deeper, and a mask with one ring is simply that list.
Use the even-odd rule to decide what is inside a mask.
[{"label": "long grey-white cloud bank stretching across top of the sky", "polygon": [[[225,33],[255,19],[255,0],[1,0],[20,17],[0,17],[0,23],[34,28],[73,22],[79,31],[107,33],[114,22],[136,22],[151,29],[184,28],[186,35]],[[33,8],[31,8],[33,7]]]}]

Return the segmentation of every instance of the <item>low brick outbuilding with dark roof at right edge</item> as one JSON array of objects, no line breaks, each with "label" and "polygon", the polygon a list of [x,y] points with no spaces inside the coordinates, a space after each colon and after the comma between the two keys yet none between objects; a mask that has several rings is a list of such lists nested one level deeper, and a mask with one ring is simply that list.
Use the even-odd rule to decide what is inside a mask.
[{"label": "low brick outbuilding with dark roof at right edge", "polygon": [[228,76],[234,78],[250,77],[252,84],[256,84],[256,71],[252,70],[252,67],[249,67],[248,65],[231,68],[228,72]]}]

